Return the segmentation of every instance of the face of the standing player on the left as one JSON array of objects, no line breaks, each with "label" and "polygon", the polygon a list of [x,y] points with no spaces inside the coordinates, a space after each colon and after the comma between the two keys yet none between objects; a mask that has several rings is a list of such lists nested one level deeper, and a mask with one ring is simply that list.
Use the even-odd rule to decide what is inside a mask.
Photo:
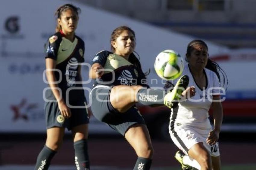
[{"label": "face of the standing player on the left", "polygon": [[77,22],[78,16],[71,9],[63,11],[61,13],[61,19],[58,19],[58,23],[61,25],[61,29],[64,34],[73,33],[76,30]]}]

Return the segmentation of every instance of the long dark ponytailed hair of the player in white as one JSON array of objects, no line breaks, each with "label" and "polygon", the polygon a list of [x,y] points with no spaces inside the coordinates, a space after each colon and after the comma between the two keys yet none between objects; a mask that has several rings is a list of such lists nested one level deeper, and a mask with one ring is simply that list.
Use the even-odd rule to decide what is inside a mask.
[{"label": "long dark ponytailed hair of the player in white", "polygon": [[[193,40],[193,41],[190,41],[188,46],[187,46],[187,52],[186,52],[187,56],[191,55],[191,51],[194,49],[193,46],[195,44],[204,45],[207,48],[207,51],[208,51],[208,46],[204,41],[202,41],[202,40]],[[186,61],[188,61],[187,58],[186,58]],[[217,75],[219,81],[220,81],[220,73],[221,73],[222,77],[223,77],[223,87],[226,86],[226,89],[227,89],[227,85],[228,85],[227,75],[226,75],[225,71],[220,67],[220,65],[218,65],[217,62],[208,58],[207,65],[205,66],[205,68],[213,71]]]}]

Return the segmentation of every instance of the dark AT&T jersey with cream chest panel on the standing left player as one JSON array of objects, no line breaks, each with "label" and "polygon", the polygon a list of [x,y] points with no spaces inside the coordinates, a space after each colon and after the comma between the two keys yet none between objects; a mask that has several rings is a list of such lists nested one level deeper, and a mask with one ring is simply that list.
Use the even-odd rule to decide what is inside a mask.
[{"label": "dark AT&T jersey with cream chest panel on the standing left player", "polygon": [[[71,42],[65,38],[61,32],[56,32],[52,35],[45,44],[45,58],[52,58],[56,60],[56,69],[54,71],[56,80],[60,80],[58,87],[61,89],[62,97],[66,99],[66,92],[70,101],[85,99],[83,89],[75,89],[81,87],[82,84],[76,82],[81,81],[78,63],[84,62],[84,42],[78,36],[75,36],[74,41]],[[61,73],[61,74],[60,74]],[[46,91],[46,99],[55,100],[52,90]]]}]

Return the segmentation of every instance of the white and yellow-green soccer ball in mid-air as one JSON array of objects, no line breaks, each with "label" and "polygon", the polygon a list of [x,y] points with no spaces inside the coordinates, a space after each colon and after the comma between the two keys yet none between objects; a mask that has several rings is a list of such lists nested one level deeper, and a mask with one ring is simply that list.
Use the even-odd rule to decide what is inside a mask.
[{"label": "white and yellow-green soccer ball in mid-air", "polygon": [[173,50],[164,50],[155,59],[155,71],[165,80],[178,78],[184,70],[183,59]]}]

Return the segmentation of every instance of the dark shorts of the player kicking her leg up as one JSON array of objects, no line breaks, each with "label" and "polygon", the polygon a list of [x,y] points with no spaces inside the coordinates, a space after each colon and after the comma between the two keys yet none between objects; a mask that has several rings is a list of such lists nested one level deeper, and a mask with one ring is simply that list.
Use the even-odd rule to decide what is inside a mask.
[{"label": "dark shorts of the player kicking her leg up", "polygon": [[145,124],[145,121],[136,107],[130,108],[125,113],[117,111],[110,102],[111,88],[98,85],[92,89],[90,94],[92,114],[124,136],[130,126],[137,123]]}]

